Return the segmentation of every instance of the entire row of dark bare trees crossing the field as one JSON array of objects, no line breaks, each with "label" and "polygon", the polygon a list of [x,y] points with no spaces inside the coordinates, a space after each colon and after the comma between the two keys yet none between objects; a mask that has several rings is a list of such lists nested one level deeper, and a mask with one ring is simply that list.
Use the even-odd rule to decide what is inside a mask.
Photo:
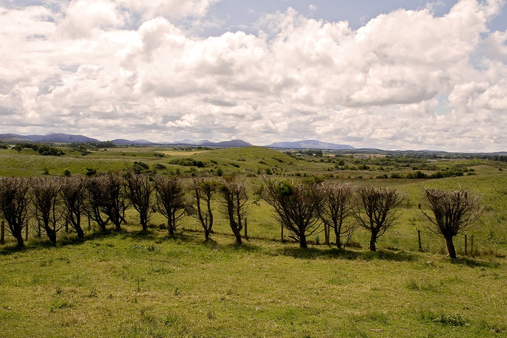
[{"label": "entire row of dark bare trees crossing the field", "polygon": [[[127,171],[94,177],[20,178],[0,177],[0,215],[9,232],[23,247],[22,230],[29,217],[52,243],[56,233],[70,226],[84,240],[81,220],[88,216],[103,232],[112,223],[117,230],[126,223],[125,212],[131,206],[139,214],[142,230],[148,229],[153,212],[167,218],[167,231],[174,235],[177,221],[193,216],[209,239],[213,226],[213,205],[228,219],[236,243],[241,244],[244,227],[247,187],[244,179],[193,177],[187,184],[178,176],[154,178]],[[402,196],[388,187],[354,187],[342,182],[324,182],[317,178],[291,181],[264,178],[256,187],[257,201],[273,207],[274,218],[288,230],[289,237],[306,248],[307,237],[322,231],[330,243],[330,229],[335,244],[344,247],[357,227],[370,234],[370,250],[377,239],[397,222],[397,207]],[[423,189],[423,199],[430,212],[422,211],[429,229],[442,234],[451,257],[456,256],[452,238],[479,216],[479,200],[465,190]]]}]

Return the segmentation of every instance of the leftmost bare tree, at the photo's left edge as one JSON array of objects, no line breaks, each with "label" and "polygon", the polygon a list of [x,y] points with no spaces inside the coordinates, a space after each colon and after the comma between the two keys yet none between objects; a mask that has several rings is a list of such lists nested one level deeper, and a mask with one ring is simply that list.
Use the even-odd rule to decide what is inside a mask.
[{"label": "leftmost bare tree, at the photo's left edge", "polygon": [[28,179],[21,177],[0,177],[0,213],[7,221],[8,231],[24,248],[22,231],[27,226],[28,206],[31,196]]}]

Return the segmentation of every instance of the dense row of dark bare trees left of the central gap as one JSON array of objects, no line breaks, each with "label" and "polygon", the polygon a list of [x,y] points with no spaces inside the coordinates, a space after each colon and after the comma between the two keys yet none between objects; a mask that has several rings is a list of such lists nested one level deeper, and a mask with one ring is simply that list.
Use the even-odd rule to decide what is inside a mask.
[{"label": "dense row of dark bare trees left of the central gap", "polygon": [[208,240],[213,226],[212,201],[218,194],[221,211],[229,219],[236,242],[241,244],[248,200],[243,180],[235,176],[220,180],[194,177],[190,194],[188,190],[182,177],[152,178],[132,171],[52,179],[0,177],[0,217],[6,220],[18,247],[24,247],[22,232],[29,218],[37,222],[39,235],[46,233],[55,244],[57,232],[69,226],[78,239],[84,240],[81,220],[85,216],[102,232],[107,231],[109,223],[121,230],[127,222],[125,212],[131,206],[139,214],[143,231],[148,229],[153,212],[158,211],[167,218],[167,231],[174,235],[177,220],[188,214],[199,220]]}]

